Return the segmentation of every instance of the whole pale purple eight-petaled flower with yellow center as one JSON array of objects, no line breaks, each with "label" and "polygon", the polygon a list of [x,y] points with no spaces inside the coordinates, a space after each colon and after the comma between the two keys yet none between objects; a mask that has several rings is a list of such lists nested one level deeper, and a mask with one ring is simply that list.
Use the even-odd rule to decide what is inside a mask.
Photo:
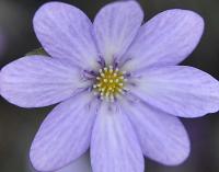
[{"label": "whole pale purple eight-petaled flower with yellow center", "polygon": [[89,148],[94,172],[142,172],[143,156],[182,163],[189,139],[177,117],[219,110],[219,82],[176,66],[196,47],[203,19],[164,11],[146,24],[136,1],[104,7],[93,24],[76,7],[49,2],[34,16],[51,57],[27,56],[1,70],[1,95],[21,107],[57,105],[43,122],[30,158],[54,171]]}]

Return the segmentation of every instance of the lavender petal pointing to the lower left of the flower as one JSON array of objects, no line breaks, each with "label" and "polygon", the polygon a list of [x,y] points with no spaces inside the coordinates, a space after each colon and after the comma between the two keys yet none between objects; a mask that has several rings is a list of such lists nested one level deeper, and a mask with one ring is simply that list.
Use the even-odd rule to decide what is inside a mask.
[{"label": "lavender petal pointing to the lower left of the flower", "polygon": [[34,168],[55,171],[84,153],[90,146],[96,107],[97,103],[87,93],[55,107],[32,144],[30,157]]}]

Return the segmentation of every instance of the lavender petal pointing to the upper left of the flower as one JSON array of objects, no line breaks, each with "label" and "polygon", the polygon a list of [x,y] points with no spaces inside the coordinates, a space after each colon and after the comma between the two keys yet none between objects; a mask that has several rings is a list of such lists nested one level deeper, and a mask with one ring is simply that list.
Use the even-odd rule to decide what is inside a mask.
[{"label": "lavender petal pointing to the upper left of the flower", "polygon": [[36,36],[51,57],[67,59],[82,68],[96,66],[92,23],[81,10],[50,2],[36,12],[33,22]]}]

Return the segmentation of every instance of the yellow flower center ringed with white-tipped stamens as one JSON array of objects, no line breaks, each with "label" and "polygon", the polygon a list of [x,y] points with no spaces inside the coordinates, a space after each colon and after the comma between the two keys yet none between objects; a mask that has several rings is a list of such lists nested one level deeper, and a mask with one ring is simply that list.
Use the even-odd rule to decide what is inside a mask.
[{"label": "yellow flower center ringed with white-tipped stamens", "polygon": [[113,66],[99,70],[93,89],[100,94],[101,100],[114,102],[116,95],[124,93],[126,82],[124,74],[124,71],[119,71],[117,68],[114,69]]}]

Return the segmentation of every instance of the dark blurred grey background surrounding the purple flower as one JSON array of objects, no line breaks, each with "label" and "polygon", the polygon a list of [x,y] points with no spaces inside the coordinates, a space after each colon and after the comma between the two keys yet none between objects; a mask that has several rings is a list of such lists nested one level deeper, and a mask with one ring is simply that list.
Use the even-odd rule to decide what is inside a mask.
[{"label": "dark blurred grey background surrounding the purple flower", "polygon": [[[39,47],[32,19],[44,0],[0,0],[0,68]],[[84,11],[90,19],[110,0],[64,0]],[[198,48],[183,65],[207,71],[219,80],[219,0],[141,0],[146,20],[173,9],[199,13],[206,22]],[[0,172],[33,172],[28,149],[37,128],[53,107],[24,110],[0,98]],[[192,153],[178,167],[164,167],[146,160],[147,172],[218,172],[219,113],[182,119],[189,134]],[[161,152],[162,153],[162,152]],[[88,157],[85,157],[88,161]],[[87,172],[88,167],[77,172]],[[66,172],[71,172],[69,168]],[[76,171],[72,171],[76,172]]]}]

